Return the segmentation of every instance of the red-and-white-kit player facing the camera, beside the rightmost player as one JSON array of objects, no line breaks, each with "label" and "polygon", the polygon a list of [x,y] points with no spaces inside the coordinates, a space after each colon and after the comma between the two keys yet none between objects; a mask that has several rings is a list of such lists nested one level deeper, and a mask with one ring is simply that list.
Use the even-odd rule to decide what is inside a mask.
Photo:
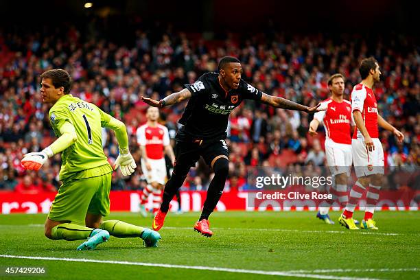
[{"label": "red-and-white-kit player facing the camera, beside the rightmost player", "polygon": [[[321,122],[324,124],[325,154],[331,175],[335,178],[335,185],[329,192],[334,199],[338,198],[340,205],[347,204],[347,178],[350,176],[351,163],[351,102],[344,99],[345,78],[340,73],[331,75],[328,79],[328,88],[331,97],[321,102],[325,111],[315,113],[310,123],[310,135],[316,135],[316,130]],[[328,211],[333,200],[325,200],[320,204],[316,218],[327,224],[334,224],[329,218]]]}]

